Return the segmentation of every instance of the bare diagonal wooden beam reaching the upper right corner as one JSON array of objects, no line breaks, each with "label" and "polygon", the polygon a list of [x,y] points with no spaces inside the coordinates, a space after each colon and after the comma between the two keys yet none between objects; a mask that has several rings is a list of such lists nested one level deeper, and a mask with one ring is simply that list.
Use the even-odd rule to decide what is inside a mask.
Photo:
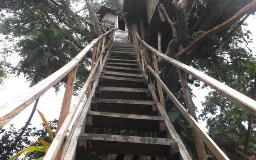
[{"label": "bare diagonal wooden beam reaching the upper right corner", "polygon": [[206,38],[211,36],[212,34],[215,34],[217,32],[220,32],[222,30],[225,30],[229,28],[232,24],[240,20],[244,15],[251,13],[256,8],[256,0],[252,1],[250,4],[242,8],[239,12],[237,12],[232,18],[229,20],[223,22],[222,24],[212,28],[211,30],[208,30],[207,32],[204,32],[201,36],[199,36],[196,40],[194,40],[192,43],[190,43],[186,48],[178,52],[177,56],[184,56],[186,53],[188,53],[190,50],[194,49],[198,44],[200,44],[202,41],[204,41]]}]

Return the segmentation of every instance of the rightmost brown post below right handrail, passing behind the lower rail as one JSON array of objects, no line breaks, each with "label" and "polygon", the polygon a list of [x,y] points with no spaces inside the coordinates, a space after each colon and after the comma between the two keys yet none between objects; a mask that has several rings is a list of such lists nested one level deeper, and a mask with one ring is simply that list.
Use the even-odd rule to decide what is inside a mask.
[{"label": "rightmost brown post below right handrail, passing behind the lower rail", "polygon": [[[179,68],[177,69],[180,77],[180,84],[182,86],[186,106],[188,108],[188,112],[193,116],[195,120],[197,120],[196,111],[195,111],[194,103],[188,87],[186,75],[184,71],[180,70]],[[204,141],[202,140],[202,138],[200,138],[200,135],[195,130],[193,130],[193,133],[194,133],[194,141],[195,141],[196,151],[198,155],[198,160],[207,160]]]}]

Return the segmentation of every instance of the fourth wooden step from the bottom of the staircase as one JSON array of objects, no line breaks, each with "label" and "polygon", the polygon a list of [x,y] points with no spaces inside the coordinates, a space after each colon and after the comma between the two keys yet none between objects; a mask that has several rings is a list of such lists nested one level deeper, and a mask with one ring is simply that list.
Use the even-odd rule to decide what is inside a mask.
[{"label": "fourth wooden step from the bottom of the staircase", "polygon": [[146,88],[127,87],[96,87],[97,98],[121,99],[121,100],[152,100],[151,92]]}]

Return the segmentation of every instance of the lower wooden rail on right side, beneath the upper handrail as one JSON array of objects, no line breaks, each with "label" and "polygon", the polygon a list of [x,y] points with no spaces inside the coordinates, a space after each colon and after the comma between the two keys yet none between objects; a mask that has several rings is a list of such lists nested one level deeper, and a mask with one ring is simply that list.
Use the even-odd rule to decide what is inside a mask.
[{"label": "lower wooden rail on right side, beneath the upper handrail", "polygon": [[220,160],[229,160],[229,158],[224,154],[224,152],[217,146],[217,144],[210,138],[210,136],[202,130],[202,128],[199,126],[198,122],[191,116],[188,111],[180,104],[180,102],[176,99],[176,97],[170,92],[170,90],[167,88],[167,86],[162,82],[162,80],[158,77],[158,75],[154,72],[154,70],[147,66],[148,70],[154,75],[156,80],[160,82],[161,86],[167,93],[167,95],[170,97],[172,102],[175,104],[175,106],[178,108],[178,110],[181,112],[181,114],[188,120],[190,125],[198,134],[200,134],[200,137],[204,140],[205,144],[209,147],[209,149],[212,151],[212,153],[216,156],[216,158]]}]

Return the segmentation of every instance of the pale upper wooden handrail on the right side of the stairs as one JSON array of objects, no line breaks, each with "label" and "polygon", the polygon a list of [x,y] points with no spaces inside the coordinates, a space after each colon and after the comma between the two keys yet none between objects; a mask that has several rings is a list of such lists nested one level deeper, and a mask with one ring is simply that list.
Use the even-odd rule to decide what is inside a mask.
[{"label": "pale upper wooden handrail on the right side of the stairs", "polygon": [[151,52],[154,52],[158,57],[163,58],[170,64],[180,68],[181,70],[185,71],[186,73],[194,76],[198,80],[201,80],[226,98],[230,99],[232,102],[238,104],[241,108],[248,111],[253,116],[256,116],[256,101],[249,98],[248,96],[245,96],[244,94],[234,90],[233,88],[230,88],[229,86],[223,84],[222,82],[219,82],[218,80],[208,76],[207,74],[204,74],[203,72],[200,72],[199,70],[196,70],[186,64],[183,64],[182,62],[179,62],[177,60],[174,60],[173,58],[170,58],[166,56],[165,54],[159,52],[152,46],[148,45],[144,40],[140,38],[138,33],[135,33],[138,40],[144,44],[146,48],[148,48]]}]

